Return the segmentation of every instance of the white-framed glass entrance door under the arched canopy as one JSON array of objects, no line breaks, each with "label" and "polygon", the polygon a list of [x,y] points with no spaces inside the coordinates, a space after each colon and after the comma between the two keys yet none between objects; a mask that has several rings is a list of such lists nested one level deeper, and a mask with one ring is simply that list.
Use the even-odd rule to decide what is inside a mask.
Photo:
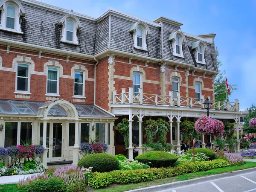
[{"label": "white-framed glass entrance door under the arched canopy", "polygon": [[[63,131],[62,123],[50,122],[47,123],[47,148],[49,148],[47,154],[47,161],[62,161],[62,144],[63,144]],[[44,125],[40,125],[40,144],[43,144],[43,128]]]}]

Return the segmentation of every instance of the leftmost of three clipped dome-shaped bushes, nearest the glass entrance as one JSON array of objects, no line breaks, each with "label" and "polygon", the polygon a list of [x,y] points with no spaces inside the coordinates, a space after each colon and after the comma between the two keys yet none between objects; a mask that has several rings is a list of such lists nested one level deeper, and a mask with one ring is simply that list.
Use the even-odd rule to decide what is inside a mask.
[{"label": "leftmost of three clipped dome-shaped bushes, nearest the glass entrance", "polygon": [[117,158],[111,154],[96,153],[81,158],[77,166],[84,168],[93,167],[93,172],[111,172],[118,169],[119,162]]}]

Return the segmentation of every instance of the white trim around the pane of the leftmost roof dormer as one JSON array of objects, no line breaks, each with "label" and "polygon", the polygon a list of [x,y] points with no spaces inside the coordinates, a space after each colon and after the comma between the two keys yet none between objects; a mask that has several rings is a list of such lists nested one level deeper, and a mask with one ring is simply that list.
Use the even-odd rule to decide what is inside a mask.
[{"label": "white trim around the pane of the leftmost roof dormer", "polygon": [[[13,6],[15,9],[14,29],[6,27],[8,6]],[[0,10],[1,10],[0,30],[23,34],[20,26],[20,16],[25,16],[26,12],[23,9],[22,5],[18,3],[16,0],[3,0],[2,4],[0,3]]]}]

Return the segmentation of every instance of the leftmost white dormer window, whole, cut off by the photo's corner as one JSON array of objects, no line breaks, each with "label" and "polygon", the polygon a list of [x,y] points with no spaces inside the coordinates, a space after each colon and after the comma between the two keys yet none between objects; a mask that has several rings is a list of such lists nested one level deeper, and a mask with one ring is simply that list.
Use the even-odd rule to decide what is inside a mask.
[{"label": "leftmost white dormer window, whole, cut off by the photo's corner", "polygon": [[20,28],[20,16],[25,16],[25,10],[19,0],[3,0],[0,2],[0,30],[23,34]]}]

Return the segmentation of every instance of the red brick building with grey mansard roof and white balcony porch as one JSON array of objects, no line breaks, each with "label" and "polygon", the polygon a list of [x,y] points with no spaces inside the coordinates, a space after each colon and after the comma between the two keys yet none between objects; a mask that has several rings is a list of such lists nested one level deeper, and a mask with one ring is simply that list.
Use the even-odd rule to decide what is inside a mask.
[{"label": "red brick building with grey mansard roof and white balcony porch", "polygon": [[214,99],[215,34],[190,35],[165,17],[109,9],[93,18],[34,0],[2,0],[0,11],[0,146],[31,139],[49,149],[45,164],[76,164],[89,137],[124,153],[114,126],[126,117],[131,158],[137,142],[142,153],[143,120],[160,117],[171,125],[166,142],[180,148],[180,121],[205,115],[207,97],[213,118],[239,121],[238,100]]}]

